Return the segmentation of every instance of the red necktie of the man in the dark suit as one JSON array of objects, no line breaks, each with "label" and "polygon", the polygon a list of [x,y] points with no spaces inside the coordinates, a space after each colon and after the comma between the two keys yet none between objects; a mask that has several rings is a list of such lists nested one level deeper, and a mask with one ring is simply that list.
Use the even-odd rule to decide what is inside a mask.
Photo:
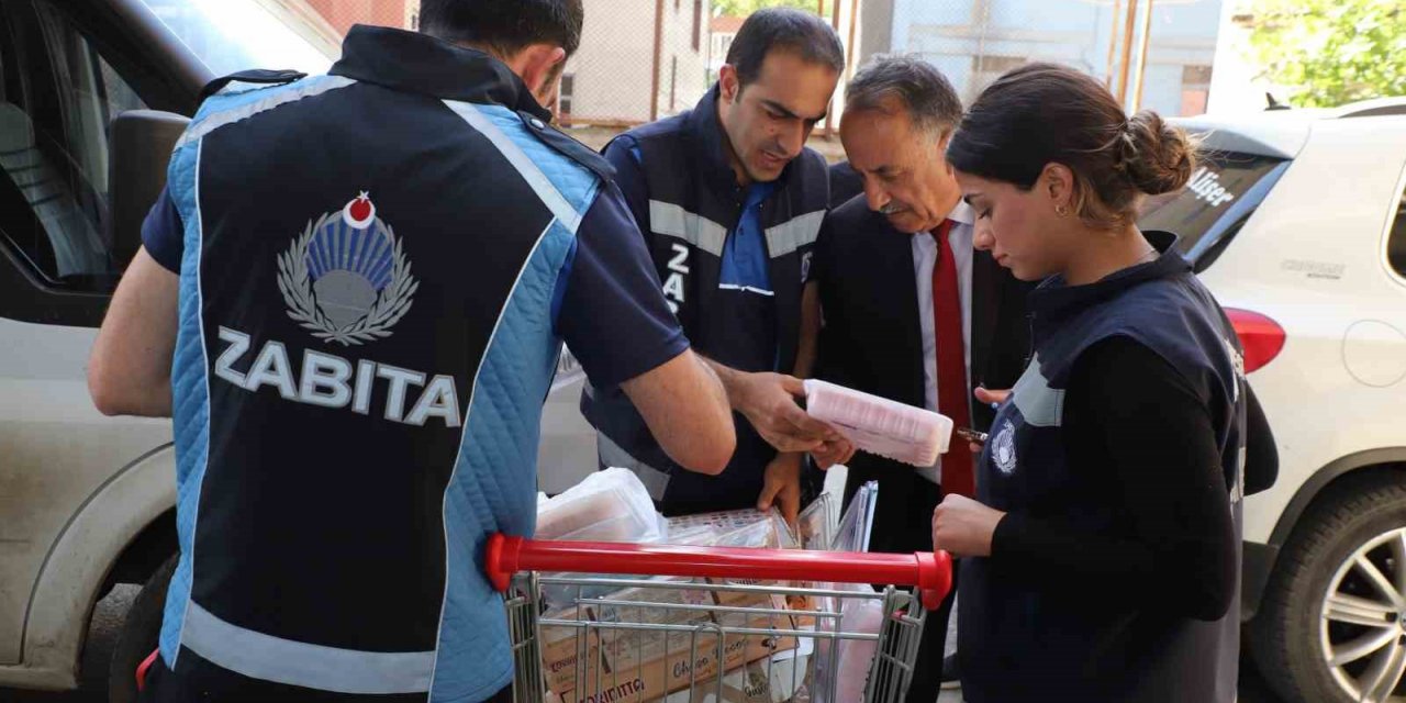
[{"label": "red necktie of the man in the dark suit", "polygon": [[[952,225],[950,219],[945,219],[932,233],[938,240],[938,263],[932,267],[932,330],[938,342],[938,412],[952,418],[957,427],[970,427],[966,343],[962,335],[962,294],[957,285],[957,263],[952,257],[952,245],[948,242]],[[948,453],[942,456],[942,492],[976,495],[972,453],[957,440],[952,440]]]}]

